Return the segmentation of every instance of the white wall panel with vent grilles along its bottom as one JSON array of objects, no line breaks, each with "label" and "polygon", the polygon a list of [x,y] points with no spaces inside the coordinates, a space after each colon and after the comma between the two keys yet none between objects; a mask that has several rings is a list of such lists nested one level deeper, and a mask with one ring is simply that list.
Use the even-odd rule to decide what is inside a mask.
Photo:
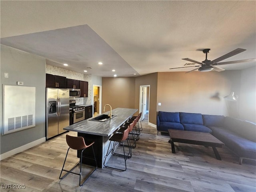
[{"label": "white wall panel with vent grilles along its bottom", "polygon": [[35,127],[36,88],[3,85],[3,135]]}]

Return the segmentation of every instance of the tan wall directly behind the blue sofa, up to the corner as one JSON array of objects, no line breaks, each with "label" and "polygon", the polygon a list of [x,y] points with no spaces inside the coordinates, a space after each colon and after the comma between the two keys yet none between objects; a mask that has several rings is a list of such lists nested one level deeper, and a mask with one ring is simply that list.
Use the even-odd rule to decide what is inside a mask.
[{"label": "tan wall directly behind the blue sofa, up to the corner", "polygon": [[191,112],[228,116],[233,106],[224,100],[231,91],[240,92],[241,70],[222,72],[159,72],[157,111]]}]

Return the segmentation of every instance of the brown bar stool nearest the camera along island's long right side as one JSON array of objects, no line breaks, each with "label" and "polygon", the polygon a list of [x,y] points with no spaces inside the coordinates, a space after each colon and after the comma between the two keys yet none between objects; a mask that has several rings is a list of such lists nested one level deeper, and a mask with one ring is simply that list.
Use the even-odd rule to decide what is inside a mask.
[{"label": "brown bar stool nearest the camera along island's long right side", "polygon": [[[125,151],[124,151],[124,141],[127,140],[127,142],[128,142],[128,136],[129,136],[129,126],[126,128],[126,130],[124,130],[124,132],[115,133],[109,138],[110,143],[109,143],[109,146],[108,146],[108,151],[107,151],[106,156],[104,158],[104,163],[103,163],[104,167],[112,168],[112,169],[116,169],[116,170],[120,170],[120,171],[125,171],[126,170],[126,160],[127,160],[128,156],[131,155],[130,147],[129,147],[129,152],[128,152],[127,155],[125,154]],[[113,146],[111,146],[111,149],[110,149],[110,145],[111,145],[112,142],[113,142]],[[116,149],[116,146],[118,146],[119,143],[121,143],[121,145],[123,146],[124,154],[114,153],[114,150]],[[119,168],[112,167],[112,166],[106,166],[106,164],[105,164],[106,163],[106,158],[108,157],[108,155],[110,153],[112,154],[112,156],[124,157],[125,169],[119,169]]]}]

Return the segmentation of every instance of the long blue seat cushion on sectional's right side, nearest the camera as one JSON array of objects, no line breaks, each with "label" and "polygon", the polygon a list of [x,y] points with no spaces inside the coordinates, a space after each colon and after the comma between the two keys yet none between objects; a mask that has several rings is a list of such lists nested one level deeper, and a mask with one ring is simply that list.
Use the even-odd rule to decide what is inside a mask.
[{"label": "long blue seat cushion on sectional's right side, nearest the camera", "polygon": [[256,159],[256,144],[253,141],[242,138],[236,132],[223,127],[211,126],[212,135],[232,150],[239,157]]}]

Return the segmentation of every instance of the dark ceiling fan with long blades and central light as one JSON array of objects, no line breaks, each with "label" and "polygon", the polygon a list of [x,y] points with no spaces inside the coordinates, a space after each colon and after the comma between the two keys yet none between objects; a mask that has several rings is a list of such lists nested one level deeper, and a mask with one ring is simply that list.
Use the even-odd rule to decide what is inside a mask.
[{"label": "dark ceiling fan with long blades and central light", "polygon": [[[208,60],[207,59],[207,54],[211,51],[211,49],[204,49],[203,50],[203,53],[206,54],[206,57],[205,57],[205,60],[202,61],[202,62],[198,62],[198,61],[195,61],[195,60],[192,60],[190,58],[184,58],[183,60],[186,60],[186,61],[190,61],[190,62],[193,62],[193,63],[197,63],[197,64],[200,64],[198,66],[188,66],[188,67],[198,67],[198,68],[195,68],[191,71],[188,71],[186,73],[189,73],[189,72],[192,72],[192,71],[200,71],[200,72],[208,72],[208,71],[224,71],[224,69],[220,68],[220,67],[217,67],[216,65],[226,65],[226,64],[235,64],[235,63],[245,63],[245,62],[253,62],[253,61],[256,61],[256,58],[254,59],[245,59],[245,60],[237,60],[237,61],[228,61],[228,62],[220,62],[226,58],[229,58],[229,57],[232,57],[238,53],[241,53],[241,52],[244,52],[246,51],[246,49],[241,49],[241,48],[237,48],[215,60]],[[220,63],[219,63],[220,62]],[[187,67],[176,67],[176,68],[170,68],[170,69],[178,69],[178,68],[187,68]]]}]

